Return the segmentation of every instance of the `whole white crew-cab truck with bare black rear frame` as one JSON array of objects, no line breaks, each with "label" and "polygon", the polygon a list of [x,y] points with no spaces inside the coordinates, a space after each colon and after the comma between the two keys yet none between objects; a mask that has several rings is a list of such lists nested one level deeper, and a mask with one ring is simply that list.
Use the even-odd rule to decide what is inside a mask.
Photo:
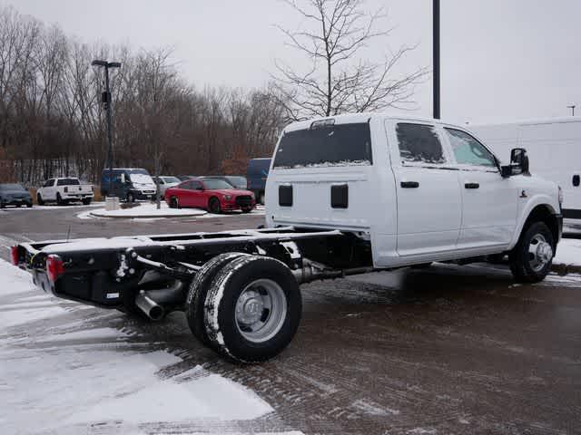
[{"label": "whole white crew-cab truck with bare black rear frame", "polygon": [[366,113],[293,123],[266,184],[266,227],[25,243],[15,265],[47,292],[159,321],[183,310],[238,362],[281,353],[301,283],[430,262],[507,261],[547,275],[562,232],[556,184],[463,127]]}]

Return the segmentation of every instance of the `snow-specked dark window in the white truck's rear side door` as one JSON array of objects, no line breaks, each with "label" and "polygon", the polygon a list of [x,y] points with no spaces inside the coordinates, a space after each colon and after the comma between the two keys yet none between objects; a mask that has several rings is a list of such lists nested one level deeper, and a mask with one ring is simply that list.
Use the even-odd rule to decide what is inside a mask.
[{"label": "snow-specked dark window in the white truck's rear side door", "polygon": [[442,164],[444,150],[434,127],[423,124],[399,123],[396,127],[401,161]]}]

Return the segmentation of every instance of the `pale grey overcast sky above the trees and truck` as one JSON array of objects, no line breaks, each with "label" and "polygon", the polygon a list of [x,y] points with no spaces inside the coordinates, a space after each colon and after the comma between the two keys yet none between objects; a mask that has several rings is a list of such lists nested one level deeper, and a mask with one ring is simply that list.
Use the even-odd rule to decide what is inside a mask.
[{"label": "pale grey overcast sky above the trees and truck", "polygon": [[[399,71],[430,66],[431,0],[368,0],[387,7],[381,59],[401,44],[418,48]],[[514,121],[581,115],[581,1],[442,0],[442,118],[457,122]],[[274,27],[294,29],[300,18],[278,0],[0,0],[22,14],[86,43],[174,47],[174,61],[196,87],[258,87],[273,60],[300,60]],[[417,88],[418,110],[431,114],[431,77]]]}]

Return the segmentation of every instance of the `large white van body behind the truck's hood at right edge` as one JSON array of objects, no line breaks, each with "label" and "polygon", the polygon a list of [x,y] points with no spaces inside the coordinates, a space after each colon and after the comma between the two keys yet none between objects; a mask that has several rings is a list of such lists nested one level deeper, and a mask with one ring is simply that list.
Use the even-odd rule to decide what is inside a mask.
[{"label": "large white van body behind the truck's hood at right edge", "polygon": [[581,219],[581,118],[470,125],[497,156],[507,160],[510,150],[524,148],[530,171],[555,181],[563,189],[563,215]]}]

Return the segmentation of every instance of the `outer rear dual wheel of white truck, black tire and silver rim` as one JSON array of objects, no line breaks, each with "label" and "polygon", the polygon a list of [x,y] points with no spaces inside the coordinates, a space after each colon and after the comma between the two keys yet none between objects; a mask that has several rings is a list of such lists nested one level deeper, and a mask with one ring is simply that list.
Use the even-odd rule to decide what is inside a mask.
[{"label": "outer rear dual wheel of white truck, black tire and silver rim", "polygon": [[236,362],[263,362],[291,343],[302,299],[291,269],[265,256],[232,260],[215,276],[204,304],[212,348]]}]

